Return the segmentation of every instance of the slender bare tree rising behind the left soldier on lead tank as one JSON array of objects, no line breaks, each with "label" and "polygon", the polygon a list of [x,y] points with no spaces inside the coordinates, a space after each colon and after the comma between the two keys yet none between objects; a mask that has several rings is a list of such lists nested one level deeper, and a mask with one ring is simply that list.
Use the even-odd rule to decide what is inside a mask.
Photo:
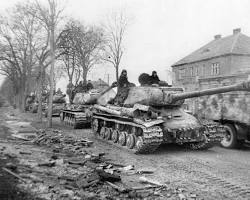
[{"label": "slender bare tree rising behind the left soldier on lead tank", "polygon": [[123,40],[128,26],[128,17],[123,12],[114,12],[104,24],[106,46],[103,60],[111,63],[119,78],[119,67],[124,52]]}]

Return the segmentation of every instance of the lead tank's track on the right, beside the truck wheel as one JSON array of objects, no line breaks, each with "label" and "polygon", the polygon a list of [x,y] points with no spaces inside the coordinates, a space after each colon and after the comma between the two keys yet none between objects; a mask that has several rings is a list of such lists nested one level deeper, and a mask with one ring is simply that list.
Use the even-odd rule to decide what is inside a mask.
[{"label": "lead tank's track on the right, beside the truck wheel", "polygon": [[204,126],[204,141],[186,144],[192,150],[207,150],[221,142],[223,135],[226,133],[224,126],[220,123],[202,120],[201,124]]}]

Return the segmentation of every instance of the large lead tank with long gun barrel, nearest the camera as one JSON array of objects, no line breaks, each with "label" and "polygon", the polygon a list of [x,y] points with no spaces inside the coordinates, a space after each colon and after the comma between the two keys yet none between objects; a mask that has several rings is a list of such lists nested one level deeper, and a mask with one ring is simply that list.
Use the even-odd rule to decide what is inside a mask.
[{"label": "large lead tank with long gun barrel, nearest the camera", "polygon": [[94,105],[92,129],[96,136],[134,153],[151,153],[162,143],[207,149],[221,141],[225,129],[186,112],[182,108],[185,99],[249,89],[249,82],[194,92],[174,87],[131,87],[122,106]]}]

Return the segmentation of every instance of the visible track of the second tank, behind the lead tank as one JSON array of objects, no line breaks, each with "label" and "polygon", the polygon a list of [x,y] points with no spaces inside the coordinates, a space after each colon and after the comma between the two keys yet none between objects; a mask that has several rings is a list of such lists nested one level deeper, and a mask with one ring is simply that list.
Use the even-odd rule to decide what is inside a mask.
[{"label": "visible track of the second tank, behind the lead tank", "polygon": [[64,125],[70,126],[73,129],[81,128],[86,124],[90,124],[91,122],[90,118],[86,116],[85,112],[74,112],[67,110],[61,111],[60,120]]}]

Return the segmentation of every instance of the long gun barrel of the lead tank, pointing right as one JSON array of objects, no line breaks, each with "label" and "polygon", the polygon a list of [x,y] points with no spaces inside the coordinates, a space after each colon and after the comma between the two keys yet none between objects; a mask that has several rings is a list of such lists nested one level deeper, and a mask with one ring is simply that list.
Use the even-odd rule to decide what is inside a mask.
[{"label": "long gun barrel of the lead tank, pointing right", "polygon": [[226,93],[232,91],[249,91],[250,92],[250,81],[242,82],[239,84],[231,85],[231,86],[223,86],[218,88],[206,89],[201,91],[194,91],[194,92],[184,92],[179,94],[168,94],[167,100],[168,103],[174,103],[179,100],[194,98],[194,97],[201,97],[205,95],[213,95],[219,93]]}]

